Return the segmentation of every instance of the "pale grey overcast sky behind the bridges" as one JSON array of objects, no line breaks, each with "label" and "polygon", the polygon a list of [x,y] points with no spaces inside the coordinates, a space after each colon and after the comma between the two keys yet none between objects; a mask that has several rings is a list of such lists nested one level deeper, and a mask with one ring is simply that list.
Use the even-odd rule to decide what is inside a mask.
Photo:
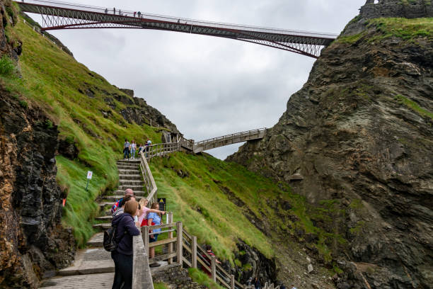
[{"label": "pale grey overcast sky behind the bridges", "polygon": [[[365,0],[69,0],[204,21],[340,33]],[[36,18],[37,19],[37,18]],[[308,79],[311,57],[248,42],[139,29],[50,31],[89,69],[204,140],[271,128]],[[208,151],[215,157],[242,144]]]}]

